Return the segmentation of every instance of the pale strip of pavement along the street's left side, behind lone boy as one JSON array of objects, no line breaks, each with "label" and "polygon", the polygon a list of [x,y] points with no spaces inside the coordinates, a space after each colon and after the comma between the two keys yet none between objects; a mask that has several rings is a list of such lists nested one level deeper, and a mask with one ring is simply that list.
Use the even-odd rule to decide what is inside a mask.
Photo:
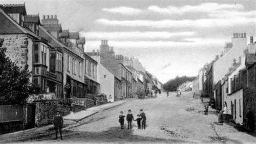
[{"label": "pale strip of pavement along the street's left side, behind lone boy", "polygon": [[78,122],[82,119],[85,119],[87,117],[92,116],[95,113],[98,113],[99,111],[104,111],[104,110],[107,110],[107,109],[111,109],[112,107],[116,107],[116,106],[118,106],[120,104],[123,104],[123,103],[124,103],[124,101],[117,101],[117,102],[114,102],[114,103],[107,103],[107,104],[100,105],[100,106],[90,107],[89,109],[86,109],[84,111],[71,113],[71,114],[63,117],[63,119],[65,121],[66,120],[73,120],[73,121]]}]

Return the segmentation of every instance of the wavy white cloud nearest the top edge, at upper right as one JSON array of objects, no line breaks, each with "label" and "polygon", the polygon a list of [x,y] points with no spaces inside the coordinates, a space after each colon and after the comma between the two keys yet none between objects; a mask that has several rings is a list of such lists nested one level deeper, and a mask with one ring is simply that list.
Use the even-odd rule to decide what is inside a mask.
[{"label": "wavy white cloud nearest the top edge, at upper right", "polygon": [[218,10],[242,10],[244,5],[241,4],[218,4],[218,3],[203,3],[200,5],[185,5],[180,8],[175,6],[167,6],[166,8],[160,8],[159,6],[152,5],[147,8],[150,11],[161,13],[161,14],[179,14],[183,15],[184,13],[190,12],[205,12],[212,13]]}]

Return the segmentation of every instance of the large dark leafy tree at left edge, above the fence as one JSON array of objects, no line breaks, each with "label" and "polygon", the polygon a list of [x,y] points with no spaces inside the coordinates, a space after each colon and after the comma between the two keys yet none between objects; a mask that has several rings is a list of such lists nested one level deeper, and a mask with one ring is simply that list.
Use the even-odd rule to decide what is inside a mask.
[{"label": "large dark leafy tree at left edge, above the fence", "polygon": [[32,93],[39,93],[37,85],[30,83],[28,65],[19,67],[6,56],[0,39],[0,105],[24,104]]}]

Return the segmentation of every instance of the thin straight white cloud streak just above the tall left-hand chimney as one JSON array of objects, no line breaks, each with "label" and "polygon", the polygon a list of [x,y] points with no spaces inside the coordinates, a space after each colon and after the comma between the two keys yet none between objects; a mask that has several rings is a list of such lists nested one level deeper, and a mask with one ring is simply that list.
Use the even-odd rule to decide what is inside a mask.
[{"label": "thin straight white cloud streak just above the tall left-hand chimney", "polygon": [[87,40],[155,40],[155,39],[170,39],[173,37],[187,37],[196,34],[196,32],[166,32],[166,31],[147,31],[147,32],[86,32]]}]

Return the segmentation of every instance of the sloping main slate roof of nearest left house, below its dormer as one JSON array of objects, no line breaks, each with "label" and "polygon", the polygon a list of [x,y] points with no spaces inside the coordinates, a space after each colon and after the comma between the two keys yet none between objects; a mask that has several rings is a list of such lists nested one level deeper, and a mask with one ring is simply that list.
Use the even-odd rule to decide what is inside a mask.
[{"label": "sloping main slate roof of nearest left house, below its dormer", "polygon": [[0,34],[30,34],[35,38],[38,36],[35,33],[27,30],[26,28],[22,27],[12,18],[10,18],[1,8],[0,8]]}]

